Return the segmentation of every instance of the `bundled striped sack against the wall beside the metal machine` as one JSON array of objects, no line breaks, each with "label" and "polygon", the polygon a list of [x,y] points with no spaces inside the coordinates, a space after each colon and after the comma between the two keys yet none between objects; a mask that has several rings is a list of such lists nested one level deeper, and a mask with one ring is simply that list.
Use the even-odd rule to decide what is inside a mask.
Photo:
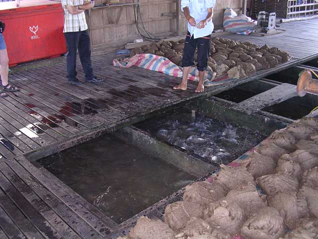
[{"label": "bundled striped sack against the wall beside the metal machine", "polygon": [[224,11],[223,27],[226,31],[248,35],[256,30],[257,21],[245,15],[238,16],[232,8],[228,7]]}]

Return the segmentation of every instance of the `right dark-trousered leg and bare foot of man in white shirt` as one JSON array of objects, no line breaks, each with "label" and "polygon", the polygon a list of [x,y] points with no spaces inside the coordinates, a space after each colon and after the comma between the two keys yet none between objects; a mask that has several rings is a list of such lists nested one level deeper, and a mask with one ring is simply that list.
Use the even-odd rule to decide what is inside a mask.
[{"label": "right dark-trousered leg and bare foot of man in white shirt", "polygon": [[210,52],[210,36],[201,37],[198,39],[198,65],[197,68],[199,70],[199,84],[195,92],[203,92],[204,91],[204,77],[205,70],[208,66],[208,57]]}]

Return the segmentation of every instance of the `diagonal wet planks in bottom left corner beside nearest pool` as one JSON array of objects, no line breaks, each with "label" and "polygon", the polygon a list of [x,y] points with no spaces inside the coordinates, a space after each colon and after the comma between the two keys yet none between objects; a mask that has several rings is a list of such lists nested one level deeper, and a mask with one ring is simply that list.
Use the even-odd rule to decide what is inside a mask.
[{"label": "diagonal wet planks in bottom left corner beside nearest pool", "polygon": [[0,233],[6,237],[101,239],[116,226],[23,156],[0,163]]}]

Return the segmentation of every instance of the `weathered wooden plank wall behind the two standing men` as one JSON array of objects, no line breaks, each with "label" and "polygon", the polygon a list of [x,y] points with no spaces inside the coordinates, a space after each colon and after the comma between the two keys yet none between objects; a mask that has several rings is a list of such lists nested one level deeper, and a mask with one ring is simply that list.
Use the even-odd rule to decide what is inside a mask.
[{"label": "weathered wooden plank wall behind the two standing men", "polygon": [[[95,5],[102,0],[95,0]],[[93,52],[107,52],[141,38],[135,25],[132,0],[120,0],[123,6],[93,8],[87,15]],[[223,12],[231,7],[241,12],[242,0],[217,0],[213,22],[222,27]],[[179,6],[180,7],[180,6]],[[140,0],[145,28],[158,36],[176,36],[176,0]],[[186,19],[181,16],[182,33],[186,32]]]}]

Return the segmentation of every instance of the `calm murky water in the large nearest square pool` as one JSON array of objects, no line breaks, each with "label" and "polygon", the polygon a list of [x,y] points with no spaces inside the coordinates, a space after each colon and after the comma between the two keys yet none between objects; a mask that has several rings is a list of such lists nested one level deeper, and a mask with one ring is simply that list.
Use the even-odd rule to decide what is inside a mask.
[{"label": "calm murky water in the large nearest square pool", "polygon": [[38,162],[116,223],[195,180],[111,135]]}]

